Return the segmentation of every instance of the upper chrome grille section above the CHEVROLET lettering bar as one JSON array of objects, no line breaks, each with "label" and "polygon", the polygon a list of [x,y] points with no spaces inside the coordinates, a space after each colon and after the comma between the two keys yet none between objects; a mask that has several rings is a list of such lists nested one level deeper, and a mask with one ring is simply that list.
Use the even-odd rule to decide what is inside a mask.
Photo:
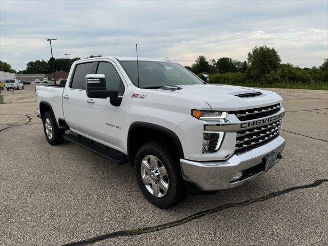
[{"label": "upper chrome grille section above the CHEVROLET lettering bar", "polygon": [[281,109],[281,104],[274,104],[270,106],[265,106],[256,109],[246,109],[229,112],[230,114],[235,114],[240,121],[257,119],[265,117],[278,112]]}]

